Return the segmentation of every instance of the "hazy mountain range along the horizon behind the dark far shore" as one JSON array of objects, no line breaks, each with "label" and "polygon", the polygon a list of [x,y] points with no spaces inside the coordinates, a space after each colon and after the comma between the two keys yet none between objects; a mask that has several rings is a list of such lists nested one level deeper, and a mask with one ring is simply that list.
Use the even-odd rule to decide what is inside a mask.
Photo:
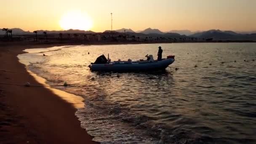
[{"label": "hazy mountain range along the horizon behind the dark far shore", "polygon": [[[31,35],[33,32],[24,31],[19,28],[11,29],[13,35]],[[197,31],[191,32],[189,30],[171,30],[168,32],[161,32],[159,29],[147,28],[142,31],[134,32],[132,29],[117,29],[116,32],[127,32],[129,35],[144,36],[144,37],[197,37],[197,38],[213,38],[214,40],[256,40],[256,31],[250,32],[250,34],[238,33],[233,31],[221,31],[219,29],[211,29],[208,31]],[[48,31],[48,30],[37,30],[37,34],[43,34],[47,32],[48,34],[59,34],[59,33],[95,33],[93,31],[84,31],[69,29],[64,31]],[[0,31],[0,35],[4,35],[4,31]]]}]

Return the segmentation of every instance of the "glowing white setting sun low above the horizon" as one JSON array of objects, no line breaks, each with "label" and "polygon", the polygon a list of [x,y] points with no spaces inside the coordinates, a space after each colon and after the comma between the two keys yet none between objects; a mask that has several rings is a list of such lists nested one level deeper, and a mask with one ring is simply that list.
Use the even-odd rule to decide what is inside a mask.
[{"label": "glowing white setting sun low above the horizon", "polygon": [[80,11],[70,11],[65,13],[59,24],[62,29],[80,29],[80,30],[89,30],[93,26],[91,18],[86,14]]}]

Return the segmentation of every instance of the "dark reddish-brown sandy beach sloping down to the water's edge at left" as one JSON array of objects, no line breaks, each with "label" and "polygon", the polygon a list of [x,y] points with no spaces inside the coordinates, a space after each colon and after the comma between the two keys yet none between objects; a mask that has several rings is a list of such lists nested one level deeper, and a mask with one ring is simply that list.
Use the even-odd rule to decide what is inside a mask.
[{"label": "dark reddish-brown sandy beach sloping down to the water's edge at left", "polygon": [[[56,44],[0,43],[1,144],[93,144],[80,127],[76,108],[38,83],[19,63],[25,48]],[[30,82],[37,87],[25,87]],[[8,84],[20,85],[8,85]]]}]

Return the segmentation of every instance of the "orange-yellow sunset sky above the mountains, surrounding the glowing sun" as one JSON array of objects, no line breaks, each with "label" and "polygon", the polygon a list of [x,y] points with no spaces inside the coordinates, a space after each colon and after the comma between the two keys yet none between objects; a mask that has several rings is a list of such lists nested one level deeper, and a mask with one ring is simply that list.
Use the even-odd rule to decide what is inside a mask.
[{"label": "orange-yellow sunset sky above the mountains, surrounding the glowing sun", "polygon": [[1,0],[0,7],[0,28],[29,31],[63,29],[69,11],[87,13],[95,32],[111,29],[111,12],[113,29],[256,30],[256,0]]}]

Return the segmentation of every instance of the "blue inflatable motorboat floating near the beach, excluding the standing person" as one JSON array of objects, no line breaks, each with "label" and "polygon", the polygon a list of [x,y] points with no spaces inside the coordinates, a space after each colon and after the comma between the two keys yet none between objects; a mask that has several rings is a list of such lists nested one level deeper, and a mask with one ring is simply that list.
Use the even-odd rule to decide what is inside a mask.
[{"label": "blue inflatable motorboat floating near the beach, excluding the standing person", "polygon": [[98,72],[139,72],[139,71],[157,71],[163,70],[172,64],[175,56],[167,56],[161,61],[153,60],[152,55],[146,56],[147,60],[139,61],[113,61],[110,62],[104,55],[99,56],[94,63],[89,65],[91,71]]}]

